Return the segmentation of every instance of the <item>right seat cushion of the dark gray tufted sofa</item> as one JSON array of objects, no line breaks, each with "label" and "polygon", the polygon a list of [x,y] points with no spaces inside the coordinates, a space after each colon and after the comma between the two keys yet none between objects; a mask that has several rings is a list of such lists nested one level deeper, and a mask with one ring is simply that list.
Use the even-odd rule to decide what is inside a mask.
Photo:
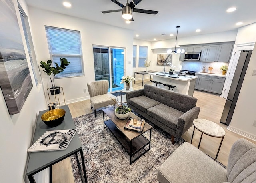
[{"label": "right seat cushion of the dark gray tufted sofa", "polygon": [[160,103],[159,105],[149,108],[147,114],[154,119],[157,119],[160,123],[176,130],[178,119],[184,113]]}]

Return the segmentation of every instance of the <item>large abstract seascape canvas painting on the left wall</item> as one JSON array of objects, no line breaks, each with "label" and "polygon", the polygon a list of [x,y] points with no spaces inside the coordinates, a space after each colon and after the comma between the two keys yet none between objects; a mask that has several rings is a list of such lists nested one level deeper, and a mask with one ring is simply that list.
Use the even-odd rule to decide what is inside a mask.
[{"label": "large abstract seascape canvas painting on the left wall", "polygon": [[10,115],[19,113],[32,80],[12,0],[0,0],[0,87]]}]

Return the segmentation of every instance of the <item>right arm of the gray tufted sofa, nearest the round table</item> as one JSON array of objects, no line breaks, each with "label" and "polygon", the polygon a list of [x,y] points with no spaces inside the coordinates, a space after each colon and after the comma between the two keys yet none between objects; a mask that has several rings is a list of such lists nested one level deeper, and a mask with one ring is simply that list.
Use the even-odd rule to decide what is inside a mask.
[{"label": "right arm of the gray tufted sofa, nearest the round table", "polygon": [[193,107],[189,111],[185,112],[182,116],[180,116],[175,133],[176,138],[181,137],[183,133],[192,127],[193,120],[198,118],[199,112],[199,107]]}]

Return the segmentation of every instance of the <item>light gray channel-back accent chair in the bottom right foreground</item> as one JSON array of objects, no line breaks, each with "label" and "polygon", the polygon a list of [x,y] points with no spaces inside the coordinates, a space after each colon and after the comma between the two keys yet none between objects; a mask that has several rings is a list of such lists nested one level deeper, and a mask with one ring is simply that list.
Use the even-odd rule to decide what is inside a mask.
[{"label": "light gray channel-back accent chair in the bottom right foreground", "polygon": [[224,169],[188,142],[183,143],[160,165],[160,183],[256,183],[256,145],[238,139]]}]

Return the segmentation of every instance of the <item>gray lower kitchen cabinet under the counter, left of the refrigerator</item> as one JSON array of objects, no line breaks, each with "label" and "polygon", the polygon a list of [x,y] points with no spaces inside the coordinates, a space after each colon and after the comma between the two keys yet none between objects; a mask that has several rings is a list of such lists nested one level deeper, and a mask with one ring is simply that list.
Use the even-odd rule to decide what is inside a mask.
[{"label": "gray lower kitchen cabinet under the counter, left of the refrigerator", "polygon": [[201,75],[198,82],[198,90],[221,94],[225,79],[219,76]]}]

